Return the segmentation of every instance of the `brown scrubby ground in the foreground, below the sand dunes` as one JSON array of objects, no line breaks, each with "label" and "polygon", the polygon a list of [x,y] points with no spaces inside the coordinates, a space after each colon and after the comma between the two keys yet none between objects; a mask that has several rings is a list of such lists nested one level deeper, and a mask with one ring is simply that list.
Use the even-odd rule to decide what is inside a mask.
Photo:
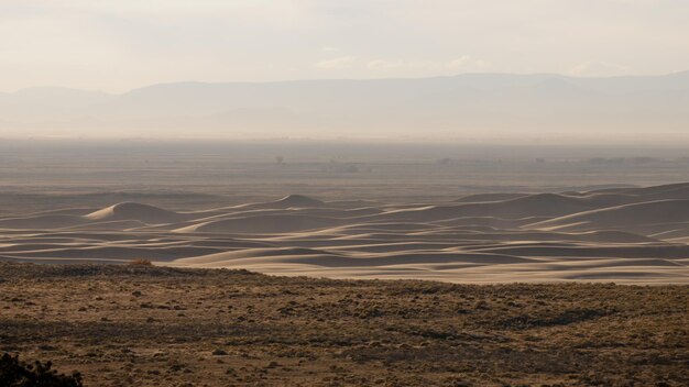
[{"label": "brown scrubby ground in the foreground, below the sand dunes", "polygon": [[0,264],[0,352],[86,386],[686,386],[689,287]]}]

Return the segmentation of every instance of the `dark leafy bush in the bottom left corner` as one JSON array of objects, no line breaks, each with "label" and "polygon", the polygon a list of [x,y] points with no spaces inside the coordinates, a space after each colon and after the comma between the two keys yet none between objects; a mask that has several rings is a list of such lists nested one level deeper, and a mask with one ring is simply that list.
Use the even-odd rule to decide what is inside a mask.
[{"label": "dark leafy bush in the bottom left corner", "polygon": [[4,387],[83,387],[81,375],[57,374],[51,362],[26,364],[19,355],[8,353],[0,357],[0,386]]}]

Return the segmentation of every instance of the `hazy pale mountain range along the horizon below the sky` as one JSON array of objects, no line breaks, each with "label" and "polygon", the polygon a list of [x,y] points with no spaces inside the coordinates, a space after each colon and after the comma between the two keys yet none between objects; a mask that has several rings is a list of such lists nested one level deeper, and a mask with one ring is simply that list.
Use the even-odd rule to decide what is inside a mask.
[{"label": "hazy pale mountain range along the horizon below the sky", "polygon": [[689,71],[174,82],[122,95],[67,88],[0,93],[0,135],[614,136],[682,134],[688,122]]}]

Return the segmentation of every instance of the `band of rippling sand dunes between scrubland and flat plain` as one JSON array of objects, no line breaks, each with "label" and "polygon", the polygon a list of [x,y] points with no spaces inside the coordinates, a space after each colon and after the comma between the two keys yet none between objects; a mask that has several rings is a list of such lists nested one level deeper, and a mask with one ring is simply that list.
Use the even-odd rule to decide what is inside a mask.
[{"label": "band of rippling sand dunes between scrubland and flat plain", "polygon": [[689,184],[449,202],[285,198],[175,212],[123,202],[0,218],[0,258],[333,278],[689,284]]}]

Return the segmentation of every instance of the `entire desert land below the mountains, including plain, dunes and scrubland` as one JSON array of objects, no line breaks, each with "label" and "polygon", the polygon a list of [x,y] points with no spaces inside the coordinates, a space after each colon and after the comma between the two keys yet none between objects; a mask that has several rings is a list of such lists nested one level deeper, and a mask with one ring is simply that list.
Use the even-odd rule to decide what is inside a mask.
[{"label": "entire desert land below the mountains, including plain, dunes and scrubland", "polygon": [[681,150],[0,148],[0,350],[88,386],[687,383]]}]

